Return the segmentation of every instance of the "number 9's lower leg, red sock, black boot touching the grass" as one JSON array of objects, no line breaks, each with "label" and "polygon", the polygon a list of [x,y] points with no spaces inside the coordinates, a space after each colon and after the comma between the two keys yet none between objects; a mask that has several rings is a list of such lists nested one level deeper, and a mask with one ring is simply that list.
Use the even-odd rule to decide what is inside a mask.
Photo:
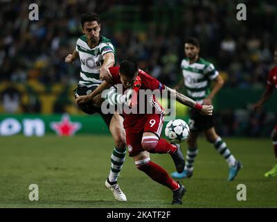
[{"label": "number 9's lower leg, red sock, black boot touching the grass", "polygon": [[146,173],[152,180],[172,190],[172,204],[182,204],[181,199],[186,192],[184,185],[170,178],[165,169],[152,162],[148,152],[141,152],[133,156],[133,159],[137,169]]}]

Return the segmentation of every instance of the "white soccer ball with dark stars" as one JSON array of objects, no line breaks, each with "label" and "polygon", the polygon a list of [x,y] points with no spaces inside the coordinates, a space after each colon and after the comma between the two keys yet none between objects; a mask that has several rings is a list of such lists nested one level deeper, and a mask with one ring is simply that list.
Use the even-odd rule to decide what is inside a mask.
[{"label": "white soccer ball with dark stars", "polygon": [[182,119],[174,119],[166,124],[166,139],[168,139],[173,144],[179,144],[186,139],[190,133],[190,128],[188,124]]}]

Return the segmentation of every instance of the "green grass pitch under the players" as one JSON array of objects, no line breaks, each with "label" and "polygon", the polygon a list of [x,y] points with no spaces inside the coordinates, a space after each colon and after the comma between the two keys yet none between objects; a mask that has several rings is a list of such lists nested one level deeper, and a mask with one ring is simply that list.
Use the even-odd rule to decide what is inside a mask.
[{"label": "green grass pitch under the players", "polygon": [[[193,178],[182,180],[183,205],[170,205],[172,192],[136,169],[126,157],[118,180],[126,203],[105,189],[113,140],[107,136],[1,137],[0,207],[277,207],[277,178],[265,178],[274,165],[270,139],[225,138],[243,168],[228,182],[228,167],[215,148],[199,139]],[[183,153],[186,144],[182,144]],[[170,155],[151,159],[169,173]],[[39,200],[30,201],[30,184],[39,187]],[[247,186],[247,200],[238,201],[237,185]]]}]

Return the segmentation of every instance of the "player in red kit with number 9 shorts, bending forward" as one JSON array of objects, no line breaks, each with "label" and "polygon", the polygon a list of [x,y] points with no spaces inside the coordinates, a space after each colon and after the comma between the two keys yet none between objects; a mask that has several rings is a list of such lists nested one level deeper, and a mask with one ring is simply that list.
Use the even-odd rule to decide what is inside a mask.
[{"label": "player in red kit with number 9 shorts, bending forward", "polygon": [[[166,87],[161,84],[156,78],[145,73],[138,68],[136,62],[125,60],[120,63],[120,67],[109,68],[111,76],[113,78],[112,85],[122,84],[123,89],[129,89],[125,99],[123,95],[121,97],[113,92],[111,89],[102,92],[104,89],[110,87],[109,83],[103,82],[98,89],[91,92],[87,96],[79,96],[77,103],[85,103],[92,101],[96,103],[97,97],[99,99],[102,92],[102,98],[110,101],[111,104],[127,103],[129,106],[136,105],[137,108],[141,108],[145,103],[140,103],[140,99],[134,99],[134,92],[138,94],[139,89],[155,89],[166,90],[169,94],[175,94],[176,100],[184,105],[188,105],[191,108],[199,110],[202,114],[212,114],[213,108],[211,105],[200,105],[192,99],[176,92],[175,90]],[[132,92],[131,94],[129,92]],[[98,95],[98,96],[96,96]],[[138,97],[140,98],[140,96]],[[152,180],[159,182],[161,185],[165,185],[173,192],[172,204],[181,204],[181,198],[186,191],[184,185],[176,182],[166,172],[165,169],[155,164],[150,160],[149,153],[169,153],[172,157],[175,167],[178,172],[184,170],[185,160],[181,153],[181,147],[179,144],[170,144],[166,139],[161,139],[161,130],[163,128],[163,108],[156,101],[154,96],[150,96],[150,100],[146,101],[147,105],[150,105],[152,112],[123,113],[124,128],[126,132],[126,143],[129,151],[129,156],[133,157],[137,169],[146,173]]]}]

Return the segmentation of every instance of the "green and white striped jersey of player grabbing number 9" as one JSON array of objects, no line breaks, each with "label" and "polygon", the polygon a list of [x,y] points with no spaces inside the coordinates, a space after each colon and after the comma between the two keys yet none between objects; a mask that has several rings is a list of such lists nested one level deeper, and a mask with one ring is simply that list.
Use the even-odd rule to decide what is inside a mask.
[{"label": "green and white striped jersey of player grabbing number 9", "polygon": [[111,40],[100,35],[99,44],[91,49],[87,43],[87,37],[82,35],[77,40],[76,51],[79,53],[81,62],[79,85],[87,85],[87,87],[100,85],[102,80],[99,75],[103,56],[105,53],[115,53]]}]

